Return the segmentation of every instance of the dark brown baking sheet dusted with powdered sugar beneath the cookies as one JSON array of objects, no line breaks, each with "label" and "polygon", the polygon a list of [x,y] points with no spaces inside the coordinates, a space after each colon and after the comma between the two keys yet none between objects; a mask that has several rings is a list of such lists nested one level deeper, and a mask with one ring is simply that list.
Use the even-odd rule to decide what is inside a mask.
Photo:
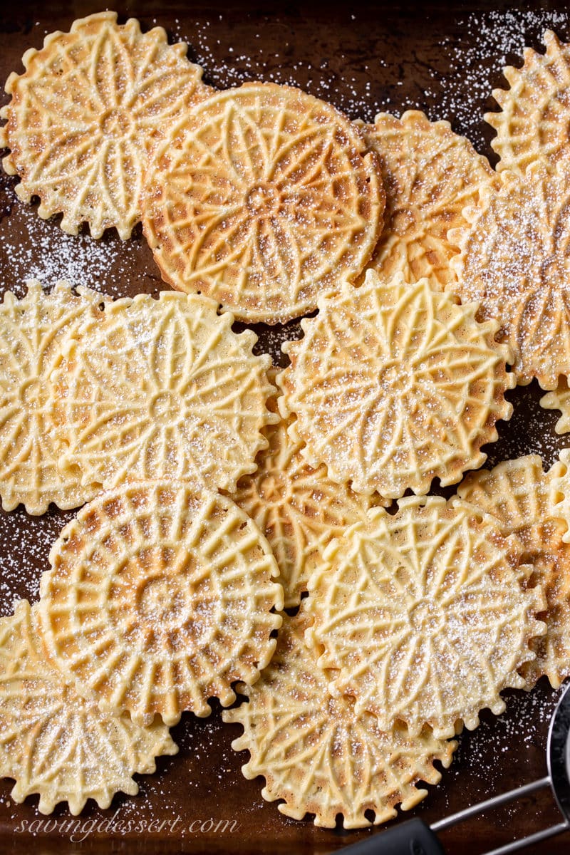
[{"label": "dark brown baking sheet dusted with powdered sugar beneath the cookies", "polygon": [[[500,69],[519,64],[523,44],[539,46],[544,27],[570,38],[563,3],[526,3],[524,9],[497,3],[424,3],[395,8],[375,3],[316,3],[304,7],[242,3],[121,3],[123,17],[135,15],[144,28],[167,28],[172,40],[190,44],[189,57],[205,69],[204,80],[226,87],[262,78],[303,86],[344,109],[351,118],[373,120],[379,109],[425,109],[431,119],[448,119],[459,133],[492,156],[491,128],[482,121],[494,109],[493,86],[504,85]],[[40,47],[47,32],[68,30],[73,20],[99,11],[97,3],[3,3],[0,10],[0,80],[21,72],[21,56]],[[2,103],[7,100],[3,96]],[[15,198],[15,180],[0,175],[0,286],[21,294],[23,281],[67,277],[115,296],[156,294],[162,285],[140,227],[122,243],[115,233],[101,241],[71,238],[56,222],[41,221]],[[283,340],[299,335],[297,322],[268,330],[257,326],[258,349],[283,360]],[[510,422],[499,424],[489,463],[538,452],[549,465],[565,444],[557,437],[557,414],[541,410],[536,384],[508,393]],[[570,434],[568,435],[570,437]],[[570,444],[570,439],[568,439]],[[73,511],[51,510],[42,517],[23,510],[0,513],[0,612],[15,598],[38,596],[50,545]],[[546,681],[529,694],[510,692],[500,718],[483,714],[473,734],[461,736],[450,770],[413,811],[427,821],[461,810],[493,793],[545,774],[549,716],[558,693]],[[160,758],[156,775],[138,776],[134,798],[115,796],[109,811],[91,803],[73,820],[58,807],[46,822],[37,797],[24,805],[9,798],[11,781],[0,781],[0,851],[67,852],[332,852],[370,831],[314,828],[283,817],[261,799],[262,781],[245,781],[240,766],[247,753],[232,752],[238,726],[223,725],[220,710],[206,720],[187,715],[173,728],[180,752]],[[403,816],[405,818],[405,815]],[[39,821],[39,824],[38,824]],[[548,790],[471,820],[442,835],[448,852],[475,855],[516,835],[531,834],[560,821]],[[35,824],[34,824],[35,823]],[[567,852],[570,834],[543,846],[536,855]]]}]

